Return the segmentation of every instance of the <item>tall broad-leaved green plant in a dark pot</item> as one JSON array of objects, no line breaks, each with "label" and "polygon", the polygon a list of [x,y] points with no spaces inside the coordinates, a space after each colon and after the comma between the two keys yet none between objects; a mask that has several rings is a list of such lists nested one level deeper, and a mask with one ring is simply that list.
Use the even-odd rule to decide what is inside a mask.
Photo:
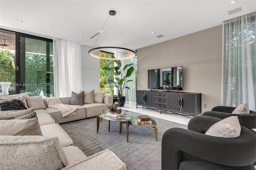
[{"label": "tall broad-leaved green plant in a dark pot", "polygon": [[[111,55],[112,58],[115,59],[114,55]],[[127,77],[130,77],[132,75],[132,72],[134,71],[133,63],[126,64],[124,68],[122,68],[121,60],[115,59],[114,62],[116,63],[116,66],[114,67],[103,67],[102,69],[113,71],[115,77],[114,80],[109,80],[111,82],[114,82],[114,86],[117,88],[117,96],[119,98],[119,106],[124,106],[125,103],[125,96],[123,95],[124,89],[130,89],[128,86],[126,86],[126,83],[132,80],[127,80]]]}]

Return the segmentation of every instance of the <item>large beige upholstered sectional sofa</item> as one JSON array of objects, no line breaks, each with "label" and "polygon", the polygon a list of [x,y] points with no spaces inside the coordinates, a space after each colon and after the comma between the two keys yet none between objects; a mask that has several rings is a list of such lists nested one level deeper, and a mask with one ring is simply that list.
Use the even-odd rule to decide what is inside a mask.
[{"label": "large beige upholstered sectional sofa", "polygon": [[[106,103],[108,103],[108,99],[109,98],[105,99]],[[69,103],[69,100],[69,98],[61,99],[63,103],[67,104]],[[72,146],[72,139],[68,134],[66,134],[60,125],[56,123],[97,116],[100,109],[108,106],[106,103],[104,103],[104,105],[98,105],[98,103],[95,103],[95,105],[88,104],[85,106],[79,106],[79,109],[76,111],[77,114],[74,115],[76,118],[74,119],[63,119],[60,113],[56,110],[54,111],[53,108],[36,109],[37,118],[33,118],[33,120],[40,125],[42,133],[39,135],[6,135],[8,134],[8,128],[6,128],[7,121],[0,120],[1,169],[125,170],[126,164],[110,150],[104,150],[87,157],[79,148]],[[97,113],[94,113],[94,111]],[[12,127],[18,128],[18,126],[20,126],[19,123],[22,123],[22,120],[11,120],[10,122],[14,122]],[[28,130],[34,128],[34,126],[21,126],[23,126],[23,128],[28,128]],[[3,131],[3,129],[7,130]],[[24,131],[26,130],[27,129]]]}]

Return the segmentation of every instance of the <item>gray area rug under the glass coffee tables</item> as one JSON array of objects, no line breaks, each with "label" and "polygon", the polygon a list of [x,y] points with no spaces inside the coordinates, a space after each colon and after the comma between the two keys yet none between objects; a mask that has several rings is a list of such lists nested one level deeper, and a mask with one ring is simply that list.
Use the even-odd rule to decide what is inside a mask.
[{"label": "gray area rug under the glass coffee tables", "polygon": [[[132,116],[141,115],[132,113]],[[157,113],[156,113],[157,114]],[[161,142],[166,130],[173,127],[185,128],[186,125],[152,117],[158,128],[158,141],[154,137],[154,128],[129,126],[129,142],[126,142],[126,125],[119,134],[119,122],[102,119],[98,134],[96,117],[60,124],[77,146],[90,156],[108,149],[114,152],[125,164],[127,170],[161,170]]]}]

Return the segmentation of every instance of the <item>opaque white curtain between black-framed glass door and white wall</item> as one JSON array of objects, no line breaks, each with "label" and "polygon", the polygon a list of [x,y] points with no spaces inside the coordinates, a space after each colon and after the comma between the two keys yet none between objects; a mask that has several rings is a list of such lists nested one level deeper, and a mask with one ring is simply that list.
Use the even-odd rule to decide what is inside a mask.
[{"label": "opaque white curtain between black-framed glass door and white wall", "polygon": [[70,97],[82,89],[81,45],[54,38],[54,96]]}]

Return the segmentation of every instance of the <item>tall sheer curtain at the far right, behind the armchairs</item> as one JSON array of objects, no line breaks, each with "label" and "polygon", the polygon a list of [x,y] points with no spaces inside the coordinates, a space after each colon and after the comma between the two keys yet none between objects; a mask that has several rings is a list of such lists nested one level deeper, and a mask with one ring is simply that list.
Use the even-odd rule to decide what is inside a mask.
[{"label": "tall sheer curtain at the far right, behind the armchairs", "polygon": [[223,22],[221,105],[256,106],[256,12]]}]

